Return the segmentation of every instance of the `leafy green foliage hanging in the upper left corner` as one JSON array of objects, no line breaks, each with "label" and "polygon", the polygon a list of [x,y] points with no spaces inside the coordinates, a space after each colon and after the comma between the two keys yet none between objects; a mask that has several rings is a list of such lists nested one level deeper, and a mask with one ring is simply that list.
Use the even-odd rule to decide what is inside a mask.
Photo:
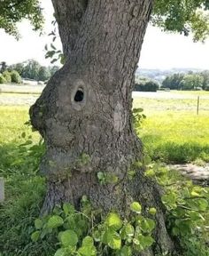
[{"label": "leafy green foliage hanging in the upper left corner", "polygon": [[43,28],[43,14],[39,0],[0,1],[0,28],[19,38],[17,23],[23,19],[31,22],[35,30]]}]

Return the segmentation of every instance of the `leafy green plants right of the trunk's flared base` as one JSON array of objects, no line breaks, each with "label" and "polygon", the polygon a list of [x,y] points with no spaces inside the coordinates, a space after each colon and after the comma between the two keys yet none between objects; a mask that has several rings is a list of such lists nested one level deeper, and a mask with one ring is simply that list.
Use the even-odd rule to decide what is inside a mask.
[{"label": "leafy green plants right of the trunk's flared base", "polygon": [[163,188],[167,228],[182,245],[182,255],[208,256],[209,188],[194,185],[162,164],[150,164],[146,176]]}]

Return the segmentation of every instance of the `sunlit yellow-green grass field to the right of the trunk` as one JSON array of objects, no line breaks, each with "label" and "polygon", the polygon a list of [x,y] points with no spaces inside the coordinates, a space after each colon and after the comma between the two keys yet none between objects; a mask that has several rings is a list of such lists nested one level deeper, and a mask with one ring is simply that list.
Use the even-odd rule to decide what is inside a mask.
[{"label": "sunlit yellow-green grass field to the right of the trunk", "polygon": [[152,160],[187,163],[209,162],[209,100],[202,100],[197,116],[196,100],[135,100],[143,108],[139,136]]}]

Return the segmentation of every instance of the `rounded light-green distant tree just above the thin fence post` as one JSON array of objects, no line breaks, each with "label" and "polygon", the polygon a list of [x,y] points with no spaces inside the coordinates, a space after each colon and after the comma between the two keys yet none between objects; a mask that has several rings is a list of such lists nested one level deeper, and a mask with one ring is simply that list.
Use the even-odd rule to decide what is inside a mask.
[{"label": "rounded light-green distant tree just above the thin fence post", "polygon": [[203,87],[204,78],[198,74],[186,75],[181,82],[182,90],[197,90]]}]

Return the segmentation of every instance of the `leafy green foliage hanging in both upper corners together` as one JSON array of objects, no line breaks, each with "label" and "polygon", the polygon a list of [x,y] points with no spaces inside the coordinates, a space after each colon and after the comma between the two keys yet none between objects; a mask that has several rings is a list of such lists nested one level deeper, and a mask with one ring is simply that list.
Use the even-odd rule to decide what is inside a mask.
[{"label": "leafy green foliage hanging in both upper corners together", "polygon": [[[156,0],[151,24],[166,31],[188,36],[194,41],[204,41],[209,35],[209,0]],[[43,14],[39,0],[0,1],[0,28],[18,37],[17,22],[27,18],[35,30],[43,26]]]}]

